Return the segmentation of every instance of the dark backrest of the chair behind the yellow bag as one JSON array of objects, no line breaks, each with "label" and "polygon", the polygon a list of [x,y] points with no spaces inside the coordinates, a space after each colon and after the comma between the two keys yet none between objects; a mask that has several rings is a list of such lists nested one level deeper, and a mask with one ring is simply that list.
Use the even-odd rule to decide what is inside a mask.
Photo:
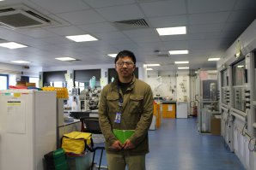
[{"label": "dark backrest of the chair behind the yellow bag", "polygon": [[99,118],[96,117],[82,117],[81,121],[81,131],[91,132],[94,134],[102,134],[101,126],[99,123]]}]

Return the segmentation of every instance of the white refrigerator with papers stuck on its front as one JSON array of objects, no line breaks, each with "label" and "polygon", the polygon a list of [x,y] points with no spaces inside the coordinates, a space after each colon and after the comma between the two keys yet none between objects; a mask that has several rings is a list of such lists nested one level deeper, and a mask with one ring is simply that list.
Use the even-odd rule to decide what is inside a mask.
[{"label": "white refrigerator with papers stuck on its front", "polygon": [[56,122],[56,91],[0,91],[0,170],[43,170]]}]

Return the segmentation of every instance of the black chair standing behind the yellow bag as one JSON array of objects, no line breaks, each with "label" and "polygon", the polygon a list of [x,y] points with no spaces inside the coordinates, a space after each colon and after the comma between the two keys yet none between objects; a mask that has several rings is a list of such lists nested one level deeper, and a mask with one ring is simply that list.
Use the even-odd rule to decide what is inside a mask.
[{"label": "black chair standing behind the yellow bag", "polygon": [[[81,121],[81,132],[90,132],[93,134],[102,134],[101,132],[101,126],[99,123],[99,118],[97,117],[82,117],[80,118]],[[93,141],[93,140],[92,140]],[[103,155],[103,150],[105,149],[104,146],[97,146],[94,147],[93,145],[93,149],[92,152],[94,152],[94,156],[95,156],[95,152],[97,149],[101,149],[101,159],[100,159],[100,164],[99,164],[99,170],[101,169],[101,160],[102,160],[102,155]],[[92,161],[92,165],[91,165],[91,170],[94,167],[94,156],[93,156],[93,161]]]}]

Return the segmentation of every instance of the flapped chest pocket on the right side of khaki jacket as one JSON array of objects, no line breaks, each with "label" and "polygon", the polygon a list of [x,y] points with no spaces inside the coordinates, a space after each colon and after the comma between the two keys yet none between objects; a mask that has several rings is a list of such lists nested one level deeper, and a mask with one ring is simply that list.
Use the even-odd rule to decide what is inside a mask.
[{"label": "flapped chest pocket on the right side of khaki jacket", "polygon": [[130,96],[130,113],[136,114],[143,111],[143,96],[131,95]]}]

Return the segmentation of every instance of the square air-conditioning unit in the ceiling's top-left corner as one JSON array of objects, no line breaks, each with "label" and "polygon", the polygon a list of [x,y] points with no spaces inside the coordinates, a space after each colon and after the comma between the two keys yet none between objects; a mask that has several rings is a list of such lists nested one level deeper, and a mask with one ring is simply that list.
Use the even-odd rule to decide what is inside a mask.
[{"label": "square air-conditioning unit in the ceiling's top-left corner", "polygon": [[25,5],[0,9],[0,26],[16,29],[50,24],[50,20]]}]

